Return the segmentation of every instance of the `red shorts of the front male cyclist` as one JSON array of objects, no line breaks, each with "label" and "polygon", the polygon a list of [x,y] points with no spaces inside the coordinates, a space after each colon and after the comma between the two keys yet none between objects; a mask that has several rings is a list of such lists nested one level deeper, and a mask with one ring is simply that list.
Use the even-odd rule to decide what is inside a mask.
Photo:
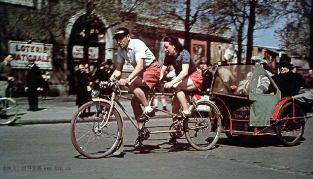
[{"label": "red shorts of the front male cyclist", "polygon": [[151,90],[155,84],[159,82],[160,79],[161,67],[157,60],[155,60],[149,67],[142,70],[139,73],[139,77],[141,77],[146,85]]}]

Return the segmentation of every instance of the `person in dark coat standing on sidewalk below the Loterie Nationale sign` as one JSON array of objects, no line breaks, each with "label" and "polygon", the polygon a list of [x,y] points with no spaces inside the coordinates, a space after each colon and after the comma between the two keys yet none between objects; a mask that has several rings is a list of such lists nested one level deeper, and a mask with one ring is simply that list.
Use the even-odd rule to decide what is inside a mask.
[{"label": "person in dark coat standing on sidewalk below the Loterie Nationale sign", "polygon": [[29,109],[31,111],[38,111],[38,91],[37,88],[40,87],[42,82],[41,72],[37,65],[35,64],[35,58],[28,58],[28,72],[26,75],[26,86],[27,86],[27,97]]}]

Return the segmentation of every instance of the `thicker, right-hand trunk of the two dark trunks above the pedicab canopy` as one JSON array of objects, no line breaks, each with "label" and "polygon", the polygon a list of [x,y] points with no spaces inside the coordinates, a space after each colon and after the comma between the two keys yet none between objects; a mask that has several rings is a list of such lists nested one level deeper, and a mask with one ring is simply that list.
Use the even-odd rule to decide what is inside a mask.
[{"label": "thicker, right-hand trunk of the two dark trunks above the pedicab canopy", "polygon": [[251,56],[253,50],[253,30],[255,24],[255,6],[257,1],[250,0],[250,14],[249,14],[249,26],[248,26],[248,41],[247,41],[247,57],[246,62],[251,63]]}]

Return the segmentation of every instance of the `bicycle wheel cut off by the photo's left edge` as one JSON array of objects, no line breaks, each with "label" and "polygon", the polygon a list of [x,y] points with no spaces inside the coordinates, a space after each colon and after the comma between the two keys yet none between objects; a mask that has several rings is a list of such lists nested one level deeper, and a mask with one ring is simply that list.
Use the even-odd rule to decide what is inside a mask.
[{"label": "bicycle wheel cut off by the photo's left edge", "polygon": [[10,97],[0,98],[0,125],[13,123],[16,120],[18,105]]}]

